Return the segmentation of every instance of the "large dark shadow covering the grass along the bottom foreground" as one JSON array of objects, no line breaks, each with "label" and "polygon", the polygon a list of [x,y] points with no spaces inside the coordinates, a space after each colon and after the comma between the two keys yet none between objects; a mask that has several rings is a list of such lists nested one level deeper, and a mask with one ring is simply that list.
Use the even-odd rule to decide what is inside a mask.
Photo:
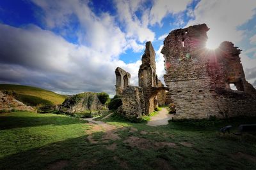
[{"label": "large dark shadow covering the grass along the bottom foreground", "polygon": [[[239,153],[243,148],[243,146],[234,147],[232,143],[223,146],[219,145],[220,143],[211,143],[209,147],[215,146],[220,150],[205,150],[205,152],[196,152],[192,148],[180,145],[177,148],[143,149],[125,144],[126,137],[116,141],[102,141],[105,133],[108,132],[92,134],[93,138],[97,139],[97,143],[90,143],[84,135],[0,158],[0,169],[164,169],[164,167],[253,169],[255,167],[251,160],[239,158],[237,162],[229,156]],[[106,146],[113,143],[116,144],[116,148],[108,150]],[[232,147],[234,150],[230,150]]]}]

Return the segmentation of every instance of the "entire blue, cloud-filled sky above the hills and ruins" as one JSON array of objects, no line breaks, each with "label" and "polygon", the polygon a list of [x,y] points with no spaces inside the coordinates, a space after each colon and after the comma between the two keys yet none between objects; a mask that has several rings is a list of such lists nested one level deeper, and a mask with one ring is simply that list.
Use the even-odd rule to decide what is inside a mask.
[{"label": "entire blue, cloud-filled sky above the hills and ruins", "polygon": [[0,83],[60,94],[115,94],[115,69],[138,69],[145,43],[156,51],[163,82],[163,40],[173,29],[207,24],[209,48],[232,41],[256,87],[255,0],[2,0]]}]

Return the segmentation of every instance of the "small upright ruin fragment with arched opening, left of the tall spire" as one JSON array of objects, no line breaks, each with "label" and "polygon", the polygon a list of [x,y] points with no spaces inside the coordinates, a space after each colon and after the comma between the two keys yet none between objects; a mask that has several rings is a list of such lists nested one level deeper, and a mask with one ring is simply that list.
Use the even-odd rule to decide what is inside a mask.
[{"label": "small upright ruin fragment with arched opening, left of the tall spire", "polygon": [[122,94],[123,90],[130,85],[131,74],[124,71],[124,69],[117,67],[116,74],[116,94]]}]

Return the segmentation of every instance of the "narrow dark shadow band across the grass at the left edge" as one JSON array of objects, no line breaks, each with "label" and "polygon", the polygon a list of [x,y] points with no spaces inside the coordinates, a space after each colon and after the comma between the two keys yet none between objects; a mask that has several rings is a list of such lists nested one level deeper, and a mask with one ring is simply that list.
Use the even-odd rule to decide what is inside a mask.
[{"label": "narrow dark shadow band across the grass at the left edge", "polygon": [[[36,114],[36,113],[35,113]],[[77,119],[71,119],[70,117],[60,116],[44,116],[44,117],[15,117],[5,115],[0,117],[0,129],[13,129],[20,127],[35,127],[42,125],[69,125],[80,124],[85,122],[84,120],[77,121]]]}]

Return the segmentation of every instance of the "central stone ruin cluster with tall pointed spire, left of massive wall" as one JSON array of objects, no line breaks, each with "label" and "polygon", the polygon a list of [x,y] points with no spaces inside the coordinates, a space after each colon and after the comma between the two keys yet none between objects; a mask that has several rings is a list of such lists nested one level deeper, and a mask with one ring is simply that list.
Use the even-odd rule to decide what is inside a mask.
[{"label": "central stone ruin cluster with tall pointed spire, left of massive wall", "polygon": [[[116,68],[116,94],[121,94],[122,106],[118,111],[126,118],[141,118],[148,115],[158,106],[157,94],[166,87],[157,87],[155,51],[150,41],[146,43],[145,53],[142,56],[142,64],[139,69],[139,87],[122,86],[122,77],[129,74],[120,67]],[[130,78],[130,77],[129,77]],[[125,84],[125,83],[124,83]],[[121,90],[120,90],[121,89]]]}]

